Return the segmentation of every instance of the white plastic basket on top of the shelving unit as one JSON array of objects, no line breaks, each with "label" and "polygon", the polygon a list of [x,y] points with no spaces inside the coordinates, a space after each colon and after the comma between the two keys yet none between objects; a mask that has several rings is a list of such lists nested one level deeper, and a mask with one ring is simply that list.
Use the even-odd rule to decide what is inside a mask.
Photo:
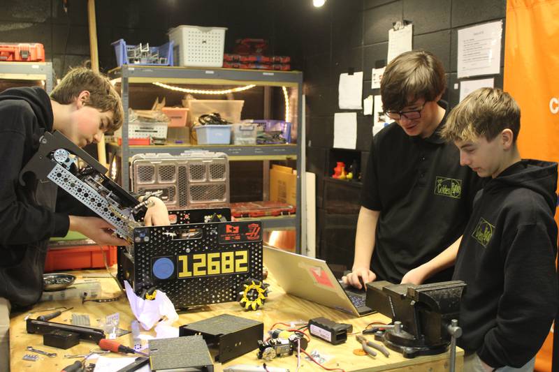
[{"label": "white plastic basket on top of the shelving unit", "polygon": [[182,25],[169,31],[175,66],[222,67],[226,27]]}]

